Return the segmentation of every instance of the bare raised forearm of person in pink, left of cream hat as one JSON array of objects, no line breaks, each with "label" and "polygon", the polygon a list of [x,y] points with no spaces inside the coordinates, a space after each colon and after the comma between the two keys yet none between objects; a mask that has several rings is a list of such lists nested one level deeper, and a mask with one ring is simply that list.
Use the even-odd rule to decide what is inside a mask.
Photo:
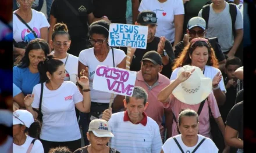
[{"label": "bare raised forearm of person in pink, left of cream hat", "polygon": [[176,79],[172,83],[170,83],[166,88],[163,88],[161,92],[158,94],[157,98],[162,103],[169,102],[169,96],[172,93],[172,91],[180,84],[181,82]]}]

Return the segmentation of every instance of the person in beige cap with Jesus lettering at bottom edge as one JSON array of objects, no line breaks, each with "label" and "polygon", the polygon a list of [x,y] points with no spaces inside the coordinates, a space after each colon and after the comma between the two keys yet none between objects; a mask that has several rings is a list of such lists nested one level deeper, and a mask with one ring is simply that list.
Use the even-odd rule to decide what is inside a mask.
[{"label": "person in beige cap with Jesus lettering at bottom edge", "polygon": [[109,139],[114,137],[111,133],[109,124],[104,119],[94,119],[90,122],[87,132],[87,139],[90,145],[82,147],[74,151],[74,153],[102,152],[102,153],[120,153],[115,148],[108,147]]}]

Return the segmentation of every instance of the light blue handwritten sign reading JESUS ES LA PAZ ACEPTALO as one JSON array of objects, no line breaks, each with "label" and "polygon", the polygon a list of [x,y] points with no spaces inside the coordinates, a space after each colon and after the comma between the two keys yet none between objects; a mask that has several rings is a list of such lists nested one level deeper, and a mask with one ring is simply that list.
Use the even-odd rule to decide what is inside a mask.
[{"label": "light blue handwritten sign reading JESUS ES LA PAZ ACEPTALO", "polygon": [[146,49],[147,37],[147,26],[112,23],[109,27],[110,46]]}]

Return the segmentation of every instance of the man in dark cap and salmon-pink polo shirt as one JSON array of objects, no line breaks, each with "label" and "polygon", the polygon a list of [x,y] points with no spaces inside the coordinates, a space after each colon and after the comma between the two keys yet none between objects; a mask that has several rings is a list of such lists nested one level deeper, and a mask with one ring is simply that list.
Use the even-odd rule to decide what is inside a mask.
[{"label": "man in dark cap and salmon-pink polo shirt", "polygon": [[141,70],[137,73],[135,86],[140,86],[147,91],[148,107],[145,108],[145,113],[157,122],[162,139],[165,131],[162,122],[163,116],[165,116],[168,139],[172,136],[172,108],[170,103],[163,104],[157,99],[159,92],[170,84],[170,80],[160,74],[162,68],[162,57],[158,52],[145,53],[141,60]]}]

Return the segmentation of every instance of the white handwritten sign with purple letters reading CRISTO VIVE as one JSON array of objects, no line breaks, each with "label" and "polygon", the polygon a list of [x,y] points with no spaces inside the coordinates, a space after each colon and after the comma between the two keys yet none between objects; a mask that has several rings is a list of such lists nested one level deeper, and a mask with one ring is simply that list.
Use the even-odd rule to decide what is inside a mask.
[{"label": "white handwritten sign with purple letters reading CRISTO VIVE", "polygon": [[132,96],[135,81],[136,72],[134,71],[98,65],[94,74],[93,89]]}]

